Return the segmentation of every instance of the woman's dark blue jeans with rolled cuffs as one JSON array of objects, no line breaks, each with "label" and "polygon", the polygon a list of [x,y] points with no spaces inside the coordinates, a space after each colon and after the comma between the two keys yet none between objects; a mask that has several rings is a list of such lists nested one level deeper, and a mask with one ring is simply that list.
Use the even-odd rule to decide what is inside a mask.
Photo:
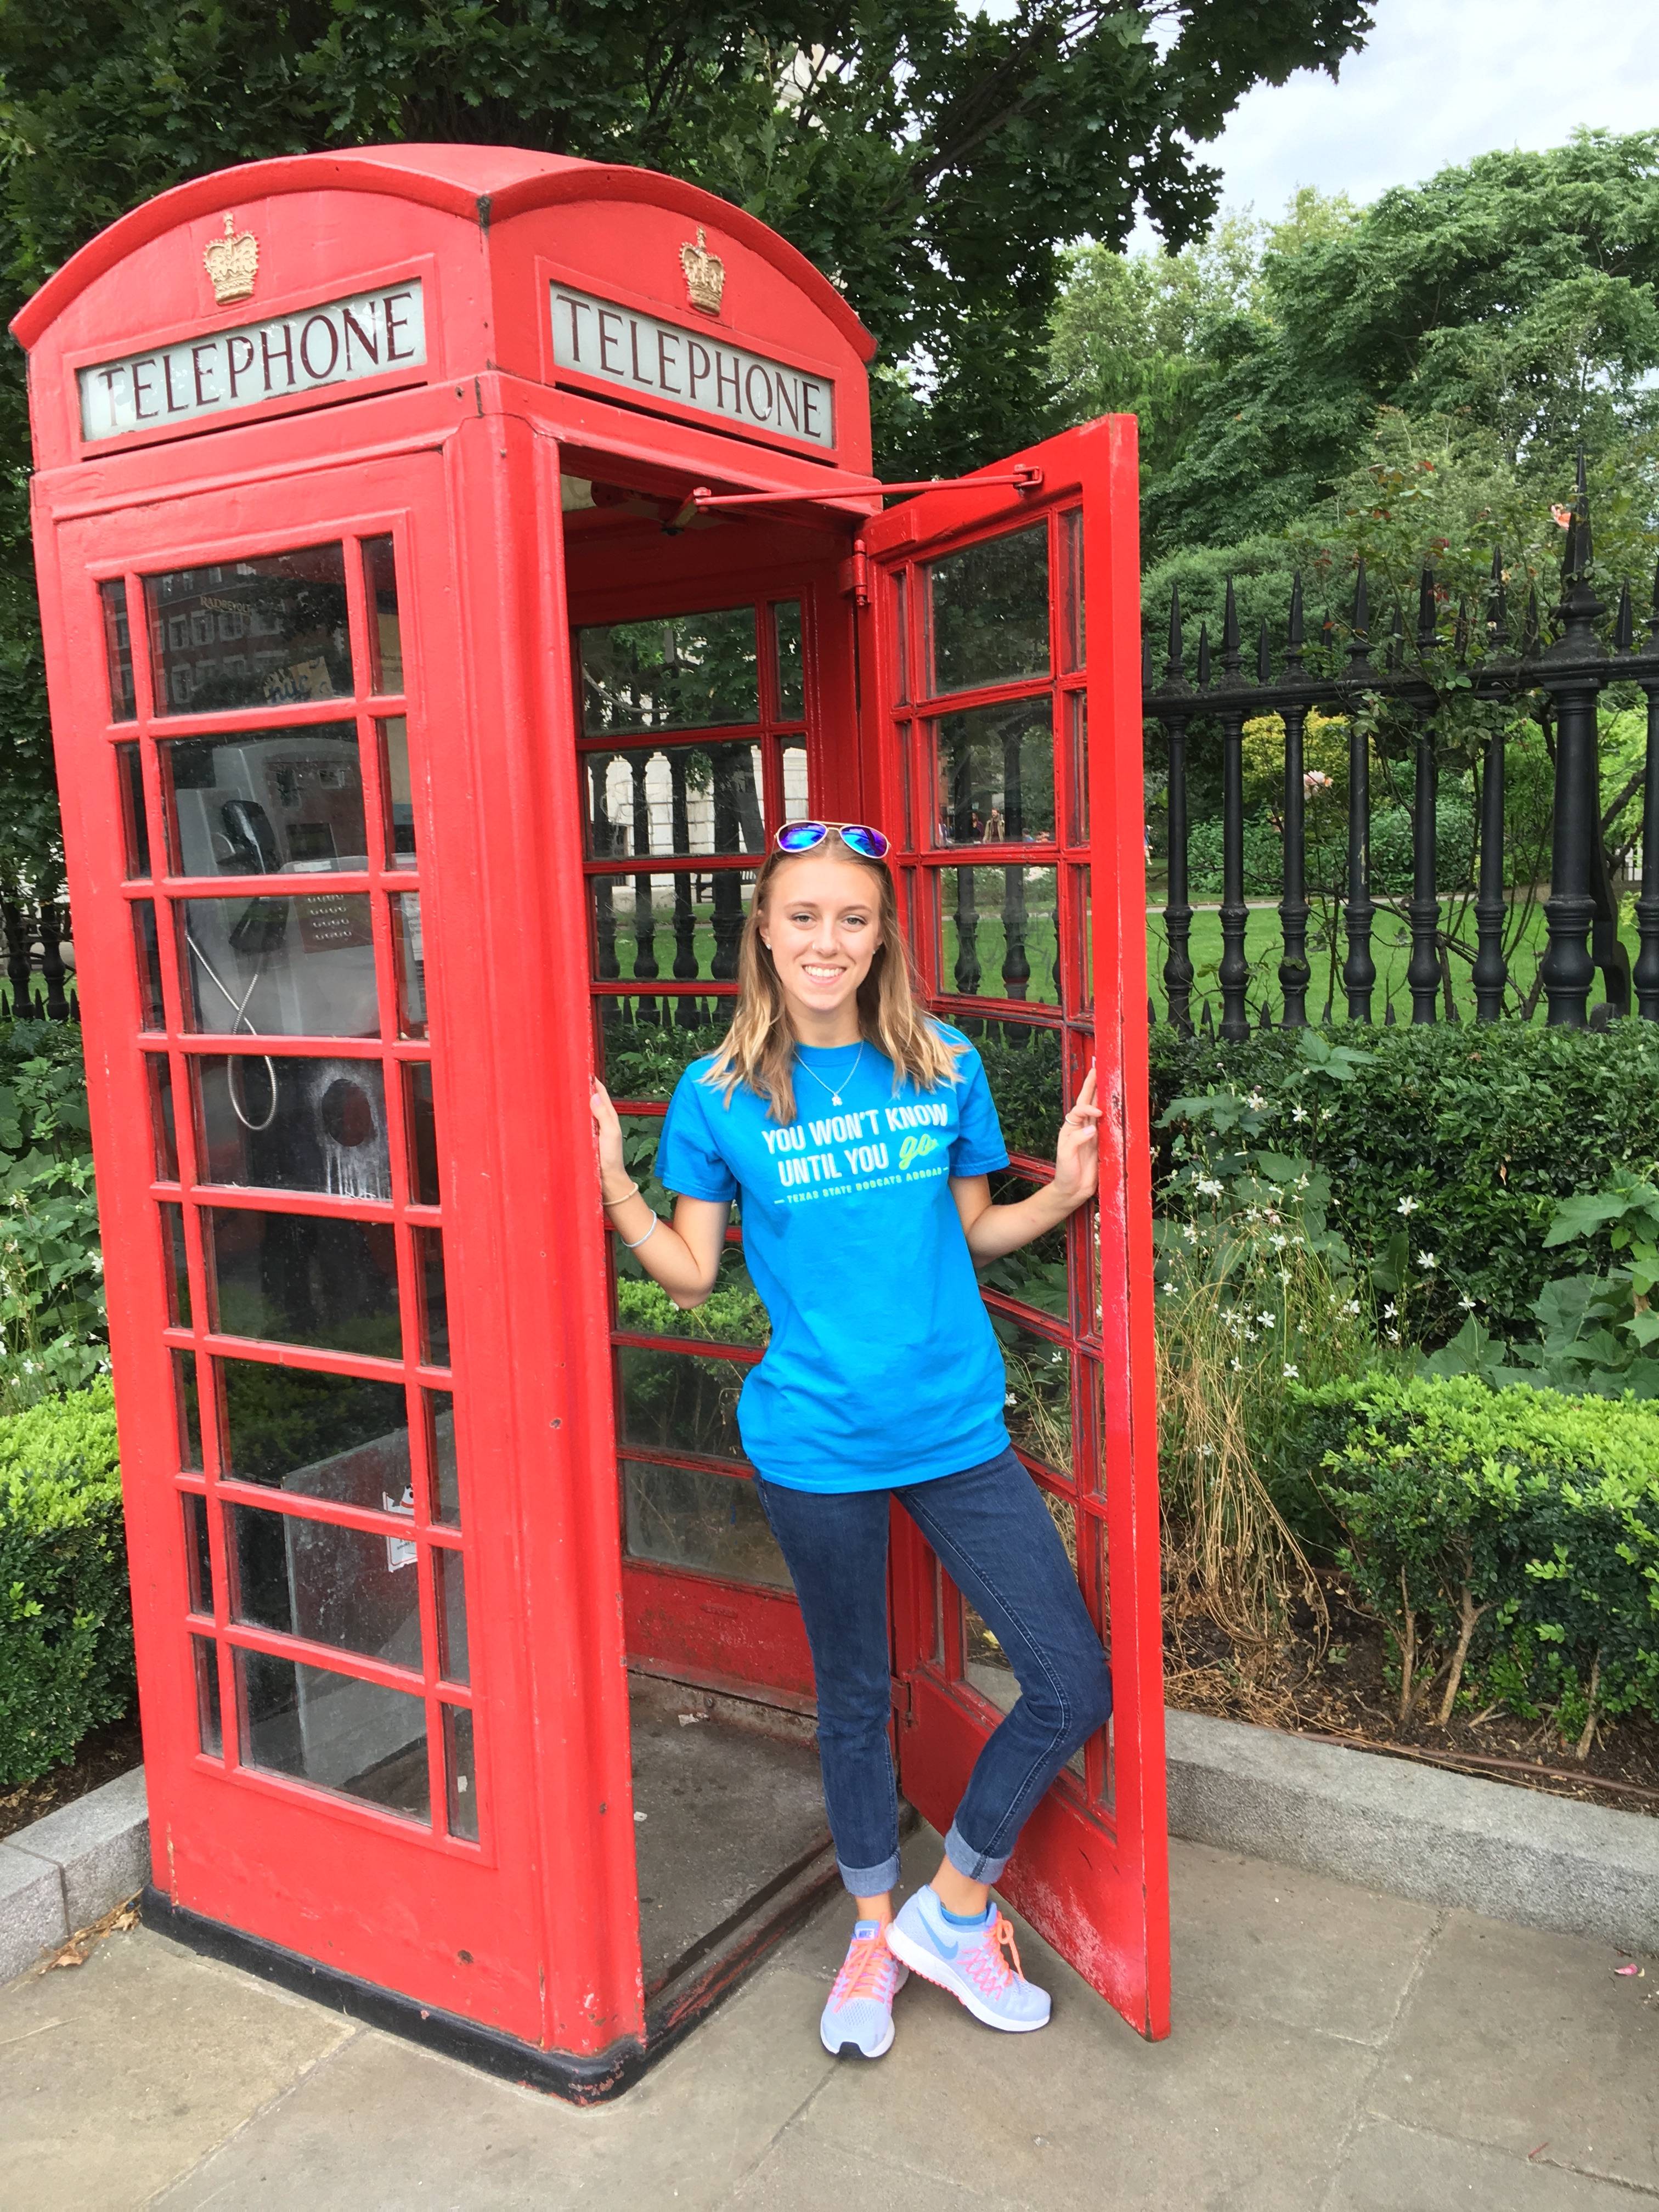
[{"label": "woman's dark blue jeans with rolled cuffs", "polygon": [[841,1878],[856,1898],[898,1880],[898,1785],[887,1743],[887,1509],[896,1498],[978,1608],[1020,1681],[945,1838],[993,1882],[1033,1805],[1113,1710],[1113,1681],[1048,1506],[1013,1451],[889,1491],[796,1491],[757,1473],[794,1577],[818,1681],[818,1759]]}]

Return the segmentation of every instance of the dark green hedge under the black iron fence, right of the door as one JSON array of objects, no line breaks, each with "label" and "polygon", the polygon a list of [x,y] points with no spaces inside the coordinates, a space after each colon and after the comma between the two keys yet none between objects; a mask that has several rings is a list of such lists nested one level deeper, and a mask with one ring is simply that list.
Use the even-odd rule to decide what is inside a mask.
[{"label": "dark green hedge under the black iron fence, right of the door", "polygon": [[[1332,1179],[1332,1223],[1367,1259],[1409,1219],[1413,1334],[1460,1327],[1460,1296],[1500,1336],[1533,1336],[1533,1301],[1562,1254],[1544,1250],[1555,1206],[1601,1190],[1615,1166],[1659,1159],[1659,1024],[1608,1031],[1544,1022],[1332,1031],[1369,1053],[1354,1082],[1307,1084],[1294,1033],[1239,1044],[1152,1031],[1152,1124],[1183,1095],[1259,1091],[1276,1115],[1265,1144],[1316,1152]],[[1321,1121],[1292,1121],[1296,1104]],[[1170,1133],[1159,1133],[1168,1146]],[[1400,1199],[1416,1210],[1400,1214]],[[1433,1252],[1436,1267],[1416,1256]]]}]

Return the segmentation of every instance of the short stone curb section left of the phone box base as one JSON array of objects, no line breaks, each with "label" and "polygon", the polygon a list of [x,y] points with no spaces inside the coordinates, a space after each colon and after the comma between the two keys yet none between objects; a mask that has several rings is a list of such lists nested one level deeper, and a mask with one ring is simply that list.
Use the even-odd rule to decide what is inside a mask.
[{"label": "short stone curb section left of the phone box base", "polygon": [[33,1966],[150,1878],[144,1767],[0,1843],[0,1982]]}]

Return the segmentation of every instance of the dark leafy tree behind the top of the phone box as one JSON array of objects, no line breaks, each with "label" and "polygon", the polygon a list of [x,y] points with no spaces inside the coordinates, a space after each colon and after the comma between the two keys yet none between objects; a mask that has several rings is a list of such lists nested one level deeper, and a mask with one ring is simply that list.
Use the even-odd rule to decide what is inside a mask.
[{"label": "dark leafy tree behind the top of the phone box", "polygon": [[[1334,69],[1367,0],[9,0],[4,312],[204,170],[396,139],[664,168],[827,270],[883,345],[878,467],[958,469],[1046,425],[1062,248],[1214,212],[1194,155],[1256,82]],[[1155,35],[1157,33],[1157,35]],[[0,876],[53,872],[27,571],[22,361],[0,365]]]}]

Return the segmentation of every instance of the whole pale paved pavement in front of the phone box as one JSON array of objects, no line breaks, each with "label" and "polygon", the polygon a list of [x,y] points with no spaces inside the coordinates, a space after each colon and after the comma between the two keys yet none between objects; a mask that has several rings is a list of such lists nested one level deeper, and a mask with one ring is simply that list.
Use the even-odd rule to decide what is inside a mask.
[{"label": "whole pale paved pavement in front of the phone box", "polygon": [[891,2055],[832,2062],[836,1900],[597,2112],[117,1933],[0,1991],[0,2212],[1659,2205],[1659,1966],[1203,1845],[1172,1867],[1166,2044],[1022,1929],[1042,2035],[911,1982]]}]

